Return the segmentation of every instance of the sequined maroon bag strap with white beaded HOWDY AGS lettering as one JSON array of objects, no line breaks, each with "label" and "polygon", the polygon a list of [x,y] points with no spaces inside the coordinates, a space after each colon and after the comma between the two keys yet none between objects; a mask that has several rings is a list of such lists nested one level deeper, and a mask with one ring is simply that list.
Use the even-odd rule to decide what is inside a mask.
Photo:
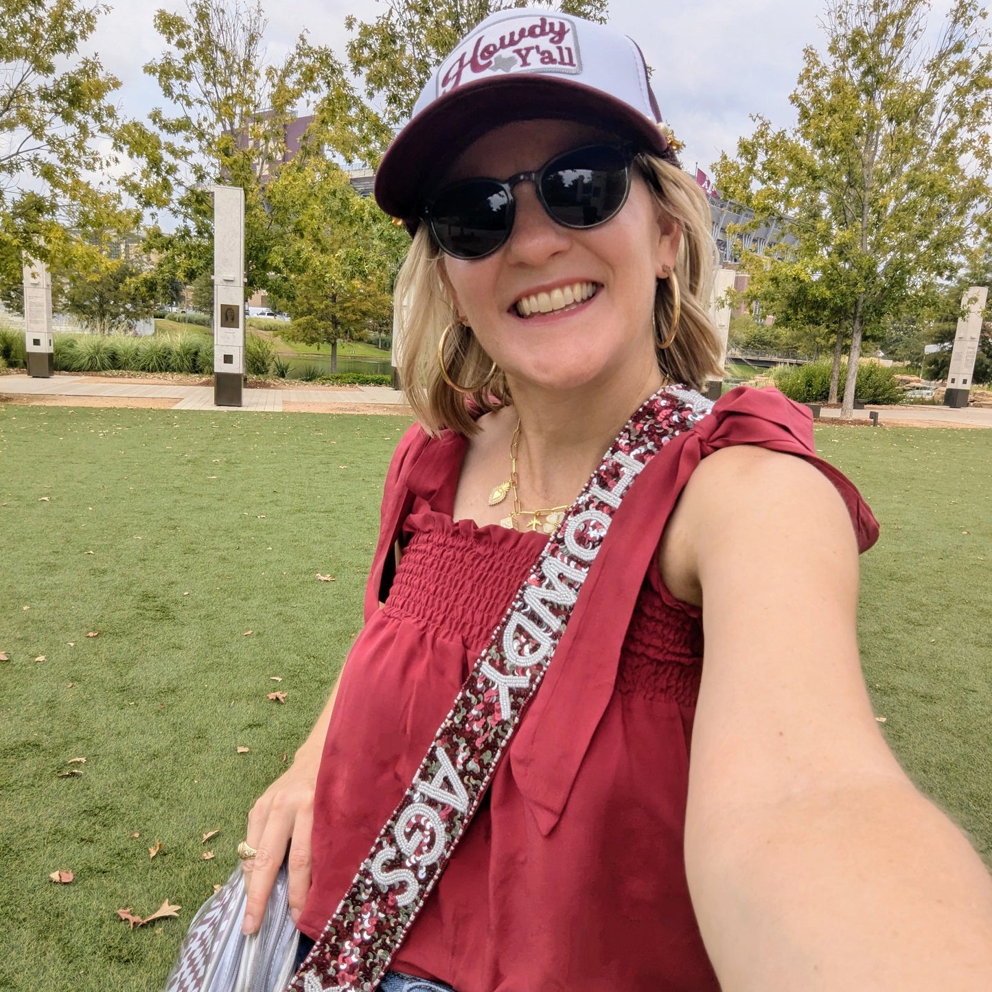
[{"label": "sequined maroon bag strap with white beaded HOWDY AGS lettering", "polygon": [[627,422],[479,656],[399,806],[289,988],[372,992],[443,872],[534,697],[624,493],[708,412],[663,389]]}]

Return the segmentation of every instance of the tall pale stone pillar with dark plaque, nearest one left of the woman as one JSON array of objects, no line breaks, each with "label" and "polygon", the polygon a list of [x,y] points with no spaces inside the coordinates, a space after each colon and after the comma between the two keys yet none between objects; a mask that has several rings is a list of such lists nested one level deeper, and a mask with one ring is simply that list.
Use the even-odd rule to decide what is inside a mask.
[{"label": "tall pale stone pillar with dark plaque, nearest one left of the woman", "polygon": [[213,192],[213,402],[240,407],[245,372],[245,191]]}]

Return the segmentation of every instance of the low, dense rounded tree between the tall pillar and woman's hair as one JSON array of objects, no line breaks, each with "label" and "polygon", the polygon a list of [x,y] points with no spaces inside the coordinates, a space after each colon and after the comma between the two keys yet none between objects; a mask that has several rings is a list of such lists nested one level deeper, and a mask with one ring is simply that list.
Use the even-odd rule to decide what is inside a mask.
[{"label": "low, dense rounded tree between the tall pillar and woman's hair", "polygon": [[281,274],[270,299],[293,322],[286,333],[309,344],[361,340],[391,323],[393,281],[409,239],[333,163],[303,156],[270,190],[281,230]]}]

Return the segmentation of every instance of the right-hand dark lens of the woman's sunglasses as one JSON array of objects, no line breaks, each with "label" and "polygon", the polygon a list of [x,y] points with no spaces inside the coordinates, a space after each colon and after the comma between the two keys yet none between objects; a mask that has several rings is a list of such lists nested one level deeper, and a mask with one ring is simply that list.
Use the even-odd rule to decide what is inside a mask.
[{"label": "right-hand dark lens of the woman's sunglasses", "polygon": [[541,195],[552,216],[566,227],[595,227],[623,206],[630,174],[616,148],[580,148],[550,162]]}]

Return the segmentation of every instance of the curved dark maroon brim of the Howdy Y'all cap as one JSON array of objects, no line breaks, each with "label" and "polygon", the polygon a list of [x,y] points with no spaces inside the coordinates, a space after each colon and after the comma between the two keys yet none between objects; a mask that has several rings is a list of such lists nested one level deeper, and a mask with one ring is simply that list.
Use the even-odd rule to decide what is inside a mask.
[{"label": "curved dark maroon brim of the Howdy Y'all cap", "polygon": [[563,119],[600,127],[665,155],[658,124],[600,89],[560,76],[509,75],[466,83],[434,100],[393,139],[375,174],[375,200],[414,233],[436,182],[477,138],[520,120]]}]

